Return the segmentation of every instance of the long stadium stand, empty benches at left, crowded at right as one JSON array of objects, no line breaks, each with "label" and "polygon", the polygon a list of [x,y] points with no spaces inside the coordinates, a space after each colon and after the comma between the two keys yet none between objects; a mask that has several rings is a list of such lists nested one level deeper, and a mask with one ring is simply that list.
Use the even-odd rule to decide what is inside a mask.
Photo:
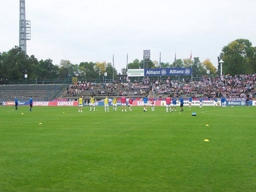
[{"label": "long stadium stand, empty benches at left, crowded at right", "polygon": [[109,97],[143,98],[145,95],[154,98],[163,98],[174,95],[193,98],[255,98],[256,74],[240,74],[234,77],[230,75],[209,77],[202,76],[192,82],[187,78],[181,81],[170,79],[145,78],[142,82],[114,82],[100,83],[81,82],[70,85],[0,85],[0,103],[13,100],[15,96],[19,100],[28,100],[33,96],[37,101],[50,101],[58,98],[76,100],[80,96],[89,98],[94,95],[97,99]]}]

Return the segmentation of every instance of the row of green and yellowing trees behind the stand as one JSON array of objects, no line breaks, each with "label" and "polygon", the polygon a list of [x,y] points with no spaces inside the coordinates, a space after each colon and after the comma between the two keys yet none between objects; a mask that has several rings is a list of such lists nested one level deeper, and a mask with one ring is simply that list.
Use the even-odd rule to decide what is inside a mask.
[{"label": "row of green and yellowing trees behind the stand", "polygon": [[[247,39],[237,39],[224,46],[218,61],[220,59],[224,61],[223,74],[256,73],[256,47],[253,47]],[[191,67],[191,62],[194,77],[206,74],[206,69],[209,67],[211,74],[216,72],[211,65],[200,62],[198,57],[194,57],[192,61],[189,58],[177,59],[172,64],[161,62],[161,65],[158,61],[135,59],[128,64],[128,69],[160,68],[160,66],[161,68]],[[24,74],[28,74],[28,80],[67,79],[70,76],[76,76],[79,80],[95,80],[103,76],[104,72],[107,72],[108,76],[113,76],[112,65],[106,62],[81,62],[78,65],[72,64],[69,60],[61,60],[59,65],[54,65],[50,58],[38,61],[34,55],[27,56],[18,46],[8,52],[0,52],[0,78],[9,81],[24,81]],[[126,66],[122,68],[121,73],[127,74]],[[220,64],[218,64],[218,74],[220,74]],[[117,78],[117,75],[117,70],[114,68],[114,78]]]}]

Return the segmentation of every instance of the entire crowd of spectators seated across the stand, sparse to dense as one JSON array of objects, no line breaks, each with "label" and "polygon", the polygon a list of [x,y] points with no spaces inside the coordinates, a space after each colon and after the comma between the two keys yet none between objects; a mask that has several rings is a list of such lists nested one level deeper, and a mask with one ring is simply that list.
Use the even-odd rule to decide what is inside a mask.
[{"label": "entire crowd of spectators seated across the stand, sparse to dense", "polygon": [[[118,86],[119,84],[119,86]],[[122,89],[119,90],[120,85]],[[82,90],[92,90],[94,87],[98,88],[95,82],[78,81],[75,85],[67,86],[67,92],[71,96],[76,96]],[[101,88],[101,89],[100,89]],[[200,80],[193,80],[189,78],[182,78],[182,80],[173,80],[170,77],[160,79],[150,79],[145,77],[142,84],[138,80],[131,82],[128,77],[115,80],[112,84],[102,83],[101,87],[96,92],[99,95],[114,96],[114,92],[118,91],[118,96],[130,95],[145,95],[152,90],[154,96],[162,97],[164,95],[174,95],[193,98],[253,98],[256,94],[256,74],[240,74],[240,75],[225,75],[225,76],[202,76]]]}]

